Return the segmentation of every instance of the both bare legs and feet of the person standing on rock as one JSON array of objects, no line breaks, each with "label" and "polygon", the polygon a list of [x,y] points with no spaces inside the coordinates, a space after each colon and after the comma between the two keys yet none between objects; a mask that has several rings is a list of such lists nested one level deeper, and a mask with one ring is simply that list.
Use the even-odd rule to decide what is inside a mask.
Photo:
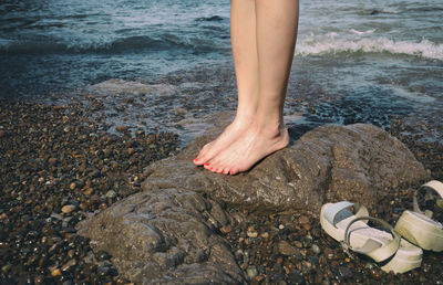
[{"label": "both bare legs and feet of the person standing on rock", "polygon": [[230,35],[238,89],[236,117],[194,159],[236,175],[289,144],[284,103],[298,28],[298,0],[233,0]]}]

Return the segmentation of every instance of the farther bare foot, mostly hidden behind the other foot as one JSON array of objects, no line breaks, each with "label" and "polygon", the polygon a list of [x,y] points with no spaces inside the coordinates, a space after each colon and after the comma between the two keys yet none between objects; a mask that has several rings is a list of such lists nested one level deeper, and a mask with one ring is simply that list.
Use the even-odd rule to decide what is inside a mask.
[{"label": "farther bare foot, mostly hidden behind the other foot", "polygon": [[198,156],[194,159],[194,163],[203,166],[215,156],[227,149],[237,138],[241,136],[253,123],[251,119],[234,119],[229,126],[217,137],[217,139],[206,144]]}]

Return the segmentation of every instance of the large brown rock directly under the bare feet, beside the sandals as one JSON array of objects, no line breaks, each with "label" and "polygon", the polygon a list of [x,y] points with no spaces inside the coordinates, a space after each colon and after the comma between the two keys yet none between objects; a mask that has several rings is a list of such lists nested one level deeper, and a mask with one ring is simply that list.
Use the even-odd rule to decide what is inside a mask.
[{"label": "large brown rock directly under the bare feet, beside the sandals", "polygon": [[427,178],[400,140],[367,124],[318,127],[234,177],[193,165],[210,139],[198,138],[178,156],[151,165],[145,191],[175,187],[251,211],[309,208],[316,212],[322,203],[339,200],[372,208],[383,190]]}]

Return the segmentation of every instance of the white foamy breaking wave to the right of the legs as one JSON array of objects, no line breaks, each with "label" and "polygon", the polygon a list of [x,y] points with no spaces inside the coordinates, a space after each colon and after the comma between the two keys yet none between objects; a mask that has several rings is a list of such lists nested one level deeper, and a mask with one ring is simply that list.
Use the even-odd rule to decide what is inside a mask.
[{"label": "white foamy breaking wave to the right of the legs", "polygon": [[334,53],[392,53],[443,61],[443,44],[429,40],[421,42],[393,41],[387,38],[341,40],[323,36],[308,38],[297,43],[298,55],[323,55]]}]

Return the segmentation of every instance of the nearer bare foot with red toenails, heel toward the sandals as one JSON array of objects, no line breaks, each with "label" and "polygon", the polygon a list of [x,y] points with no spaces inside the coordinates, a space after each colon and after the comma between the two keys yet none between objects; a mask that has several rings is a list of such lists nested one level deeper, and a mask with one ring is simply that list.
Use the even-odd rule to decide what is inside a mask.
[{"label": "nearer bare foot with red toenails, heel toward the sandals", "polygon": [[260,159],[288,144],[289,135],[286,128],[261,130],[251,125],[227,149],[205,163],[205,168],[213,172],[236,175],[250,169]]}]

